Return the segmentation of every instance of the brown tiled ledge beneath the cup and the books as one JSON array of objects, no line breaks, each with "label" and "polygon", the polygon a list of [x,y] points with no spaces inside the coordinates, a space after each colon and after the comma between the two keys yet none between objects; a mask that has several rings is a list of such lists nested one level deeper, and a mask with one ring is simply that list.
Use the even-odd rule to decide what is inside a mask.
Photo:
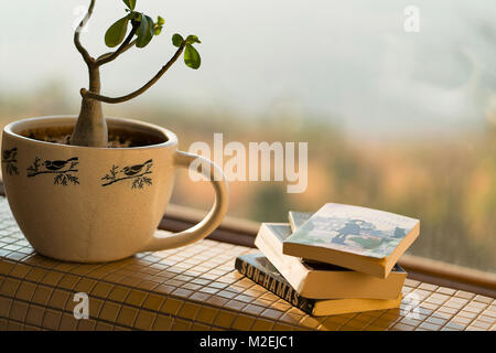
[{"label": "brown tiled ledge beneath the cup and the books", "polygon": [[[313,318],[234,269],[249,252],[206,239],[109,264],[55,261],[32,249],[2,197],[0,330],[496,330],[494,298],[409,279],[399,309]],[[78,292],[89,319],[74,317]]]}]

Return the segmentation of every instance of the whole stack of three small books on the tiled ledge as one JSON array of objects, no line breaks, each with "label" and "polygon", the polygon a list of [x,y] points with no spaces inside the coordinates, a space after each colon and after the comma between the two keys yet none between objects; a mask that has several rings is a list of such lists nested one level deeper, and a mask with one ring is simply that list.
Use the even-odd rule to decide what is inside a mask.
[{"label": "whole stack of three small books on the tiled ledge", "polygon": [[236,269],[312,315],[398,308],[407,272],[397,264],[419,235],[410,217],[343,204],[262,223]]}]

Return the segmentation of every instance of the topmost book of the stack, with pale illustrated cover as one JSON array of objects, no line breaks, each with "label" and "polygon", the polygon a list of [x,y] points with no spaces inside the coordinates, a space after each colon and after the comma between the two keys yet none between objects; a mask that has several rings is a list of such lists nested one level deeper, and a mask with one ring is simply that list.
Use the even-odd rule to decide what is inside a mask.
[{"label": "topmost book of the stack, with pale illustrated cover", "polygon": [[419,220],[327,203],[285,238],[282,252],[386,278],[419,232]]}]

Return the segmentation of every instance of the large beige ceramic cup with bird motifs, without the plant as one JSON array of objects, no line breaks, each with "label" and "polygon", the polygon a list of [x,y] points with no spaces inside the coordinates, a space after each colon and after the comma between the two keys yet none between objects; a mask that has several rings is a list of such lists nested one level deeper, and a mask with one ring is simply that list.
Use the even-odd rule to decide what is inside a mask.
[{"label": "large beige ceramic cup with bird motifs, without the plant", "polygon": [[[179,151],[177,138],[166,129],[108,118],[109,127],[166,138],[160,145],[112,149],[47,143],[19,135],[36,127],[74,126],[75,121],[75,117],[33,118],[10,124],[3,130],[2,174],[9,205],[24,236],[40,254],[77,263],[110,261],[139,252],[183,246],[204,238],[218,226],[228,206],[226,179],[211,161]],[[17,152],[15,162],[11,158],[9,162],[12,150]],[[36,159],[41,164],[39,174],[32,168]],[[67,163],[54,171],[48,168],[56,169],[61,163],[45,161]],[[211,174],[217,176],[211,179],[216,195],[214,206],[193,228],[158,237],[155,231],[171,197],[174,172],[194,161],[212,167]],[[77,163],[71,169],[74,162]],[[15,167],[17,173],[8,168],[9,163]],[[117,175],[105,179],[112,176],[110,171],[115,165]],[[140,171],[134,173],[137,170]],[[65,175],[66,185],[62,184],[64,175],[56,183],[58,174]]]}]

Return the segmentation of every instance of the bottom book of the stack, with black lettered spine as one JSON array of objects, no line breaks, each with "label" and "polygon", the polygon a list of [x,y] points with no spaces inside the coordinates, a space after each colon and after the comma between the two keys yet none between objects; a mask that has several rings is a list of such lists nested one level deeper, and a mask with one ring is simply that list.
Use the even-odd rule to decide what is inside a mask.
[{"label": "bottom book of the stack, with black lettered spine", "polygon": [[256,284],[308,314],[321,317],[369,310],[398,308],[397,299],[309,299],[300,296],[262,254],[241,255],[236,258],[236,269]]}]

